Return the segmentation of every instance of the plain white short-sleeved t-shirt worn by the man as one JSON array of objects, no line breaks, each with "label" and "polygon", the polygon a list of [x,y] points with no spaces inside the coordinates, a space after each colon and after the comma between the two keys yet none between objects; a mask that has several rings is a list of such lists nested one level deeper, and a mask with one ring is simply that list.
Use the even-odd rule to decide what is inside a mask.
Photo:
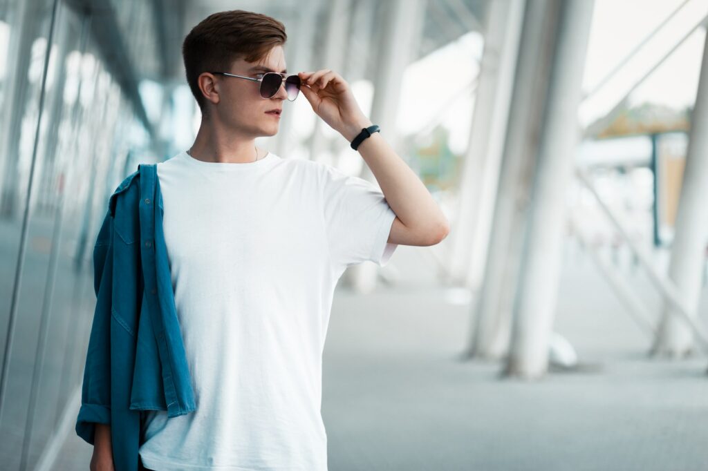
[{"label": "plain white short-sleeved t-shirt worn by the man", "polygon": [[387,264],[396,215],[381,190],[324,163],[157,165],[178,320],[197,410],[146,411],[143,464],[171,470],[327,469],[321,359],[346,267]]}]

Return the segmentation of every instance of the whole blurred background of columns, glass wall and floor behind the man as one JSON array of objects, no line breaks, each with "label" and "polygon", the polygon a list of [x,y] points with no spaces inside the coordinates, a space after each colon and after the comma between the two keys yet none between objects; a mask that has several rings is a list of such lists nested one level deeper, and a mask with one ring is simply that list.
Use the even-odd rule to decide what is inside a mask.
[{"label": "whole blurred background of columns, glass wall and floor behind the man", "polygon": [[[708,0],[0,1],[2,470],[88,469],[93,243],[192,144],[181,44],[234,8],[338,71],[450,221],[337,286],[331,470],[708,470]],[[284,105],[259,146],[372,180]]]}]

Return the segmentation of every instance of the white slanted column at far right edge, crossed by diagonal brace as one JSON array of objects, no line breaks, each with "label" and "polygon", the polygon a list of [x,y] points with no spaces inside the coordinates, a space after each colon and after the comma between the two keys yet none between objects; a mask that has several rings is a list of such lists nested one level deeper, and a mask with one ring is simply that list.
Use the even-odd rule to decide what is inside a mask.
[{"label": "white slanted column at far right edge, crossed by diagonal brace", "polygon": [[[675,232],[671,247],[668,276],[674,281],[697,318],[700,303],[702,270],[706,263],[708,241],[708,212],[705,194],[708,189],[708,34],[703,47],[703,62],[691,131],[683,170],[683,183],[676,214]],[[683,319],[671,312],[666,303],[661,315],[658,335],[651,354],[680,357],[695,354],[693,334]]]}]

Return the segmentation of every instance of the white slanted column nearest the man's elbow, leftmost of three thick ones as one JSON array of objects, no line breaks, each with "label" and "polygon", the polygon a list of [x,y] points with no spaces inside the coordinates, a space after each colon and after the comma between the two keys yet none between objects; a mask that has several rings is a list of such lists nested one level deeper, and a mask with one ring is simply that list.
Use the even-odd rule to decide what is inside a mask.
[{"label": "white slanted column nearest the man's elbow, leftmost of three thick ones", "polygon": [[472,129],[462,162],[448,283],[479,289],[511,102],[525,0],[489,5]]}]

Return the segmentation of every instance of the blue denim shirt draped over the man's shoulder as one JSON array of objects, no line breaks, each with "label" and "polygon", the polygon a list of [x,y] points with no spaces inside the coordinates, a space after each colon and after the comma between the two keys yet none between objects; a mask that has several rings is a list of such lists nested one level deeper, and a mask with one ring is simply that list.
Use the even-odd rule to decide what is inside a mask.
[{"label": "blue denim shirt draped over the man's shoulder", "polygon": [[163,214],[156,165],[138,165],[110,196],[93,248],[96,310],[76,434],[93,445],[95,424],[110,424],[120,471],[139,470],[141,411],[176,417],[196,409]]}]

